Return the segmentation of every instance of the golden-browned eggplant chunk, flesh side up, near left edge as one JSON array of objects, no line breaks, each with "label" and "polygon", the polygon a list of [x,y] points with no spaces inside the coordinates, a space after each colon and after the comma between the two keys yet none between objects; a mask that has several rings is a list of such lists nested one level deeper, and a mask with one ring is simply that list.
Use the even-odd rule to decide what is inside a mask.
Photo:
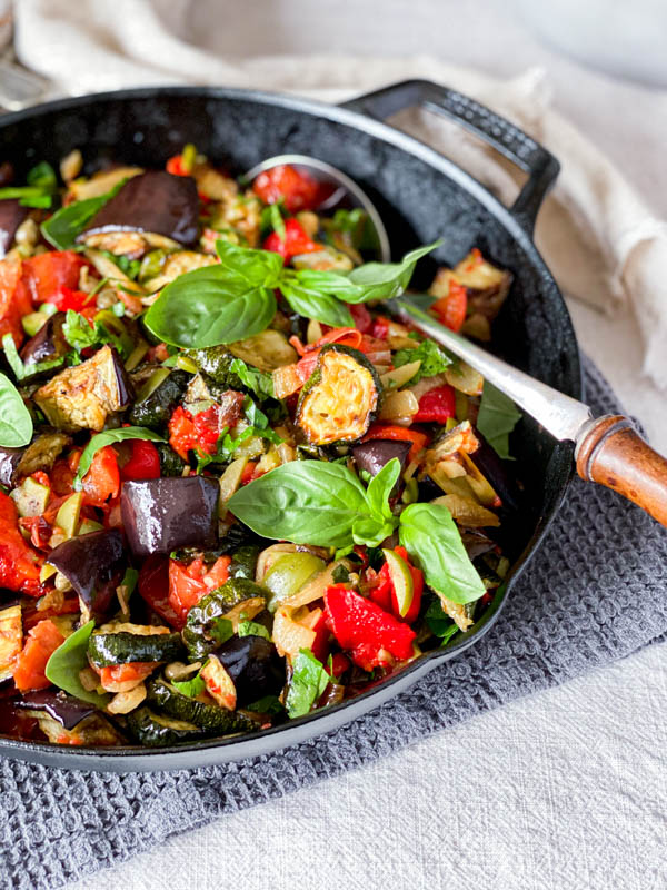
[{"label": "golden-browned eggplant chunk, flesh side up, near left edge", "polygon": [[129,405],[132,389],[118,353],[103,346],[81,365],[60,372],[33,398],[57,429],[99,433],[110,414]]}]

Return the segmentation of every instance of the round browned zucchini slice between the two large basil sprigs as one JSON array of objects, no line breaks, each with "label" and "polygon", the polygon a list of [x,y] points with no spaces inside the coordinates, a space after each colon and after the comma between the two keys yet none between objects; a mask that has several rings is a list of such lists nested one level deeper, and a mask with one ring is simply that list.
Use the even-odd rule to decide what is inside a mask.
[{"label": "round browned zucchini slice between the two large basil sprigs", "polygon": [[381,392],[362,353],[330,344],[301,390],[296,422],[310,445],[358,442],[376,417]]}]

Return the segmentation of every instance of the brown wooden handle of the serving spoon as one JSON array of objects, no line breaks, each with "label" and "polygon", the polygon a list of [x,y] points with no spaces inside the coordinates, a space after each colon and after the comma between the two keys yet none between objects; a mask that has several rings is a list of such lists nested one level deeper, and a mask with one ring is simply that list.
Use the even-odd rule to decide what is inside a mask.
[{"label": "brown wooden handle of the serving spoon", "polygon": [[577,473],[613,488],[667,525],[667,459],[621,415],[606,415],[577,443]]}]

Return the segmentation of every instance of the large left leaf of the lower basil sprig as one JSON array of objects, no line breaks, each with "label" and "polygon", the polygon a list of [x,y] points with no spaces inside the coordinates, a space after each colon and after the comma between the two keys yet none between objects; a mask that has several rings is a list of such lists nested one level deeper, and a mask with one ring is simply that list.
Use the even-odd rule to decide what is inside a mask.
[{"label": "large left leaf of the lower basil sprig", "polygon": [[239,488],[227,510],[262,537],[346,547],[368,517],[366,492],[346,466],[295,461]]}]

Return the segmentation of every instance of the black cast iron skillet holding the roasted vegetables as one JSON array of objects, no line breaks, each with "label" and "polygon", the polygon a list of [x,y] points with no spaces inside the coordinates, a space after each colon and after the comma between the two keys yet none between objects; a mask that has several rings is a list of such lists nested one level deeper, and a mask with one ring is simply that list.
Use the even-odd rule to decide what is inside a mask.
[{"label": "black cast iron skillet holding the roasted vegetables", "polygon": [[[417,105],[456,119],[528,175],[511,208],[438,152],[381,122]],[[170,87],[64,99],[0,119],[0,158],[14,164],[19,181],[37,160],[57,165],[73,148],[80,148],[92,165],[108,157],[161,167],[186,142],[195,142],[216,164],[236,172],[283,152],[313,155],[339,167],[376,201],[395,257],[444,239],[431,267],[420,263],[418,286],[430,280],[437,264],[452,266],[471,247],[479,247],[515,276],[495,326],[504,357],[561,392],[583,397],[570,319],[531,240],[541,199],[559,166],[508,121],[460,93],[426,81],[398,83],[342,107],[246,90]],[[526,486],[521,524],[512,530],[509,542],[512,567],[484,617],[460,642],[425,655],[356,699],[256,735],[153,750],[72,749],[0,738],[0,753],[92,770],[205,767],[297,744],[404,692],[486,633],[558,510],[571,475],[571,446],[555,443],[525,418],[514,434],[512,449]]]}]

